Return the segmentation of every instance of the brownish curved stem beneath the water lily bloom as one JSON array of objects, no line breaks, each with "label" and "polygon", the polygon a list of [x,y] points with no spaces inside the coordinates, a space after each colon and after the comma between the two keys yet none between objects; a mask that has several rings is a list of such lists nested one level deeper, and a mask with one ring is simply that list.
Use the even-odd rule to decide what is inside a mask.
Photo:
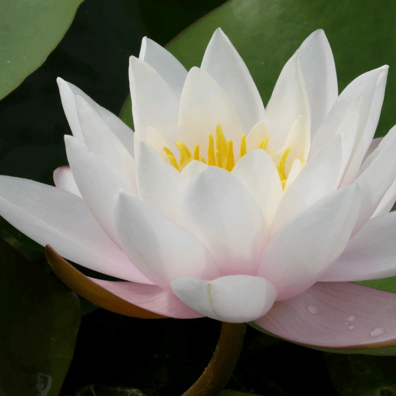
[{"label": "brownish curved stem beneath the water lily bloom", "polygon": [[226,323],[212,360],[197,382],[183,396],[215,396],[227,385],[237,364],[246,332],[246,323]]}]

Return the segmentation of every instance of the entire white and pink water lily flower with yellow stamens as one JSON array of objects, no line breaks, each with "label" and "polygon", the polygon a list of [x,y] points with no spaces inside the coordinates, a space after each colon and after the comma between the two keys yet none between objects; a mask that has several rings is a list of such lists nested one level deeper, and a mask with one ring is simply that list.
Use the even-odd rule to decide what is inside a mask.
[{"label": "entire white and pink water lily flower with yellow stamens", "polygon": [[317,30],[264,109],[217,29],[200,68],[144,38],[129,72],[135,133],[58,78],[69,166],[56,187],[1,176],[1,216],[159,315],[317,346],[394,342],[396,295],[350,283],[396,275],[396,127],[373,140],[388,66],[339,96]]}]

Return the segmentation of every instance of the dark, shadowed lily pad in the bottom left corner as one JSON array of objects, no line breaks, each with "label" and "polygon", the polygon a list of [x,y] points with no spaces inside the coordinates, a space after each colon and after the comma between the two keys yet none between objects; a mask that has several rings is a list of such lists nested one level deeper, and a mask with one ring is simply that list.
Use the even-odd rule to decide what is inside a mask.
[{"label": "dark, shadowed lily pad in the bottom left corner", "polygon": [[2,240],[0,272],[0,394],[56,396],[74,352],[79,298],[46,263]]}]

